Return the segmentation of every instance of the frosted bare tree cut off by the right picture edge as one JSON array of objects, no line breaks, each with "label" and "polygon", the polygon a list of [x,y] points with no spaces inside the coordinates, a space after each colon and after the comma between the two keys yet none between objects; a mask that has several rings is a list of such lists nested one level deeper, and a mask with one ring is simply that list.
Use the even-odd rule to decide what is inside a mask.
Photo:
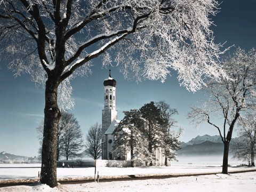
[{"label": "frosted bare tree cut off by the right picture edge", "polygon": [[239,160],[251,161],[255,166],[254,156],[256,153],[256,116],[247,114],[239,121],[238,140],[234,143],[234,156]]}]

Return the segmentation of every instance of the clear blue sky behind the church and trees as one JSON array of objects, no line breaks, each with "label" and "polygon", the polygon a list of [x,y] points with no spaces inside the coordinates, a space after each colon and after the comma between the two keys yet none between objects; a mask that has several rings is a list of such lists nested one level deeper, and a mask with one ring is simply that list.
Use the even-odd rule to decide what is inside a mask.
[{"label": "clear blue sky behind the church and trees", "polygon": [[[240,46],[249,50],[256,45],[256,1],[223,0],[220,12],[211,17],[216,26],[212,26],[215,43],[225,43],[224,47]],[[231,49],[233,51],[234,48]],[[103,109],[103,81],[108,77],[109,69],[102,68],[98,59],[93,61],[92,75],[77,77],[73,85],[73,98],[76,105],[69,113],[77,118],[84,136],[89,127],[101,123]],[[0,152],[25,156],[37,156],[39,142],[36,127],[43,119],[44,90],[37,89],[25,74],[14,78],[6,69],[6,63],[0,63]],[[118,69],[111,68],[111,76],[116,79],[116,108],[118,119],[122,119],[124,110],[139,109],[150,101],[165,100],[176,108],[179,115],[174,116],[178,126],[185,130],[181,141],[189,141],[197,135],[218,135],[218,131],[209,125],[195,129],[190,125],[186,114],[189,107],[197,105],[203,99],[202,91],[188,92],[180,87],[175,71],[167,77],[165,83],[159,81],[126,81]]]}]

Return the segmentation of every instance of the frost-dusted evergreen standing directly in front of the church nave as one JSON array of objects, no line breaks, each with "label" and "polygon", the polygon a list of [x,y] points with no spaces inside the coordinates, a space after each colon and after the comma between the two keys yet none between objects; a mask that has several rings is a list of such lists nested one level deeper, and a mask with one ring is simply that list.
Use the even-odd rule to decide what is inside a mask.
[{"label": "frost-dusted evergreen standing directly in front of the church nave", "polygon": [[113,132],[115,137],[113,150],[117,156],[125,156],[131,153],[131,166],[134,160],[140,159],[145,154],[147,143],[145,135],[141,132],[144,120],[137,109],[124,111],[124,118]]}]

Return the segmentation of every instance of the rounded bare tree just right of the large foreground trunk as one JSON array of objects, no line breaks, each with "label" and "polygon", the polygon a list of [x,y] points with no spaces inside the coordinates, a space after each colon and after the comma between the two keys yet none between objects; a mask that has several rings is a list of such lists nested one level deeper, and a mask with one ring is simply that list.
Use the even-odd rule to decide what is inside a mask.
[{"label": "rounded bare tree just right of the large foreground trunk", "polygon": [[60,156],[66,159],[81,157],[81,150],[84,147],[83,133],[74,114],[62,113],[60,124]]}]

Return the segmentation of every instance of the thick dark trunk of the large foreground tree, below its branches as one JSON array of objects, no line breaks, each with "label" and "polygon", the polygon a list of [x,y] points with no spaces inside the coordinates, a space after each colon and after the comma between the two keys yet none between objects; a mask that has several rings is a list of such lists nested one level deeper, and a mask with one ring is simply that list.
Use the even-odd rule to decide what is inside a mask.
[{"label": "thick dark trunk of the large foreground tree, below its branches", "polygon": [[44,135],[40,181],[50,187],[57,186],[57,140],[61,113],[57,103],[58,83],[46,81],[44,108]]}]

